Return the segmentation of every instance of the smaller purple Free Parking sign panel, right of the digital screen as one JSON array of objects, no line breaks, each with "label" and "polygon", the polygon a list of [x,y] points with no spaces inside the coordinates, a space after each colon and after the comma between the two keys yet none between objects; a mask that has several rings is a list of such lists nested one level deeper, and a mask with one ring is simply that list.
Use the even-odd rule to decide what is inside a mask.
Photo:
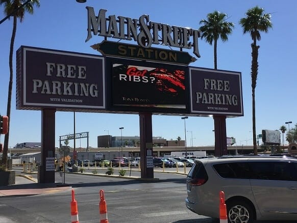
[{"label": "smaller purple Free Parking sign panel, right of the digital screen", "polygon": [[189,68],[190,113],[243,116],[241,73]]}]

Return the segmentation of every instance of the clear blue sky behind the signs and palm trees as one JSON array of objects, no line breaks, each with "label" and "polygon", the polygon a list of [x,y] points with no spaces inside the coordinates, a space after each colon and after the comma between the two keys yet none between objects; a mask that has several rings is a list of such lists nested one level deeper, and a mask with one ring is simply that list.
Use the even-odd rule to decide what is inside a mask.
[{"label": "clear blue sky behind the signs and palm trees", "polygon": [[[150,20],[170,26],[199,29],[199,21],[207,14],[218,10],[228,14],[228,21],[235,24],[228,42],[218,42],[217,68],[238,71],[242,74],[242,92],[244,116],[229,118],[227,136],[236,138],[237,145],[252,145],[252,88],[251,88],[251,42],[249,34],[243,35],[239,20],[245,12],[255,6],[271,13],[273,29],[261,33],[258,41],[259,70],[256,87],[256,133],[262,129],[276,130],[287,121],[292,121],[290,128],[297,123],[295,89],[297,85],[296,56],[297,2],[293,0],[212,0],[212,1],[97,1],[88,0],[79,4],[75,0],[40,1],[33,15],[26,14],[23,22],[17,25],[14,43],[14,83],[10,123],[9,147],[22,142],[41,141],[41,111],[17,110],[15,106],[15,52],[20,46],[32,46],[55,50],[65,50],[96,54],[90,46],[99,43],[103,37],[87,37],[86,6],[94,8],[95,14],[106,9],[106,15],[139,18],[150,15]],[[4,18],[4,7],[0,6],[0,19]],[[6,115],[9,82],[9,47],[13,19],[0,25],[0,114]],[[112,40],[112,39],[109,39]],[[136,44],[136,42],[130,42]],[[156,47],[156,46],[155,46]],[[213,68],[213,46],[199,40],[201,58],[191,66]],[[192,52],[189,51],[191,55]],[[184,120],[181,116],[153,116],[153,136],[165,139],[185,138]],[[139,116],[101,113],[76,113],[76,132],[89,132],[89,145],[97,146],[97,136],[139,136]],[[214,124],[212,118],[189,117],[186,120],[187,145],[206,146],[214,144]],[[56,112],[56,146],[59,136],[73,133],[73,113]],[[4,135],[1,136],[4,142]],[[261,141],[260,141],[261,142]],[[86,147],[87,140],[77,140],[76,146]],[[70,142],[73,146],[73,141]]]}]

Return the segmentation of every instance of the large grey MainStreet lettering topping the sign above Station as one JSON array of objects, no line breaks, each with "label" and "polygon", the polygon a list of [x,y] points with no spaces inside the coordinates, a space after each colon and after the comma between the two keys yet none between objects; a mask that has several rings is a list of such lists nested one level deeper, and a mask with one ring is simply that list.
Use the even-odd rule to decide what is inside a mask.
[{"label": "large grey MainStreet lettering topping the sign above Station", "polygon": [[[110,15],[106,17],[107,10],[100,9],[95,16],[93,7],[86,7],[88,12],[88,36],[86,42],[93,35],[137,41],[143,48],[150,48],[152,44],[191,49],[200,57],[198,49],[199,30],[185,27],[169,26],[167,24],[150,21],[149,15],[141,15],[139,19],[124,16]],[[107,23],[108,21],[108,23]],[[126,25],[126,28],[125,28]],[[159,40],[161,36],[161,40]],[[192,42],[190,41],[192,37]]]}]

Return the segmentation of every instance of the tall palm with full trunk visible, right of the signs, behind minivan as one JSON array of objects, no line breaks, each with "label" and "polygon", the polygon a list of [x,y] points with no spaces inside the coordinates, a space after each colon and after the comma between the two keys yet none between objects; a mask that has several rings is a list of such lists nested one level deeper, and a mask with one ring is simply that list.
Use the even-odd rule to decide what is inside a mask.
[{"label": "tall palm with full trunk visible, right of the signs, behind minivan", "polygon": [[257,141],[256,141],[256,109],[255,109],[255,88],[258,76],[258,50],[257,40],[261,40],[261,32],[267,33],[272,28],[271,14],[264,14],[264,9],[258,6],[249,9],[245,13],[246,17],[241,18],[239,24],[243,28],[243,34],[250,33],[253,43],[252,46],[252,103],[253,103],[253,144],[254,154],[257,155]]}]

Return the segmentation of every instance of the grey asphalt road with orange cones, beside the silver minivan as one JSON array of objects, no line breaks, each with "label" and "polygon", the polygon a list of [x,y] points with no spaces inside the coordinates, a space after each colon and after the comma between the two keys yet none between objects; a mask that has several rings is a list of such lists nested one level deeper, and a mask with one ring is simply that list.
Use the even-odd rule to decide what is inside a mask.
[{"label": "grey asphalt road with orange cones, beside the silver minivan", "polygon": [[[69,173],[65,174],[65,183],[75,191],[81,223],[100,222],[98,204],[101,189],[104,190],[109,222],[219,222],[218,219],[192,213],[185,207],[185,175],[155,172],[154,176],[159,180],[140,181]],[[63,176],[57,172],[55,179],[62,182]],[[70,202],[71,189],[34,196],[0,197],[0,222],[68,223],[71,222]],[[280,222],[283,221],[275,221]]]}]

